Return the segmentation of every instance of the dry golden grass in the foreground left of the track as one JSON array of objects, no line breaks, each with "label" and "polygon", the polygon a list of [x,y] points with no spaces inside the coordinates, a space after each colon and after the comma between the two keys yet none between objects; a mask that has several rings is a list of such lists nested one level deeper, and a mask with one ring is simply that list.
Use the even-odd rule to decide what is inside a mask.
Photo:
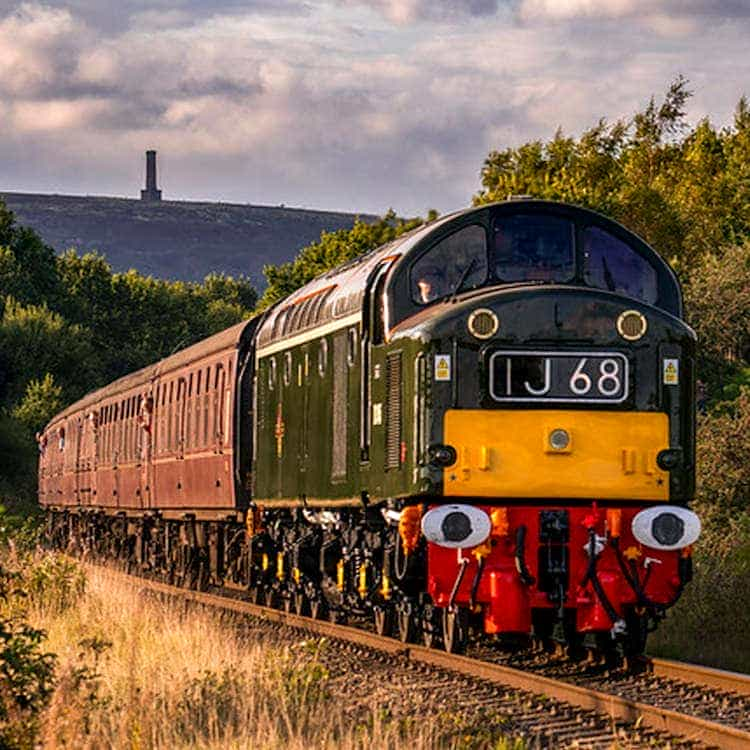
[{"label": "dry golden grass in the foreground left of the track", "polygon": [[347,714],[316,642],[259,642],[215,614],[89,569],[73,606],[31,597],[57,684],[45,748],[433,747],[429,728]]}]

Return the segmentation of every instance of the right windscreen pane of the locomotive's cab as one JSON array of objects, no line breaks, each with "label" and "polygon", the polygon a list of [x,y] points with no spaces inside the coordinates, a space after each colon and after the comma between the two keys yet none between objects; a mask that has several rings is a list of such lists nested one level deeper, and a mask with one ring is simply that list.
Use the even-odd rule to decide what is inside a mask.
[{"label": "right windscreen pane of the locomotive's cab", "polygon": [[586,283],[655,304],[659,296],[656,269],[634,248],[599,227],[583,234]]}]

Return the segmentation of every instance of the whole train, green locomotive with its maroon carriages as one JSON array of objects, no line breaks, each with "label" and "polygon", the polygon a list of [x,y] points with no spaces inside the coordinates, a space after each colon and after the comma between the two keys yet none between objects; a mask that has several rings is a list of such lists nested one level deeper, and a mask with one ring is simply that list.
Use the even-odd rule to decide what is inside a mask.
[{"label": "whole train, green locomotive with its maroon carriages", "polygon": [[695,348],[620,224],[471,207],[56,415],[46,535],[451,652],[637,656],[700,534]]}]

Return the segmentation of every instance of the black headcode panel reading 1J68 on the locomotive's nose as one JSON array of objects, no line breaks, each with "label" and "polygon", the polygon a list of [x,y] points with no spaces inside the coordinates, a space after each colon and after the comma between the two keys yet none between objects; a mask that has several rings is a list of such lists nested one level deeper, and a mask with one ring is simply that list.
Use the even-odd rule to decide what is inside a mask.
[{"label": "black headcode panel reading 1J68 on the locomotive's nose", "polygon": [[628,397],[628,361],[617,352],[493,352],[490,396],[495,401],[619,404]]}]

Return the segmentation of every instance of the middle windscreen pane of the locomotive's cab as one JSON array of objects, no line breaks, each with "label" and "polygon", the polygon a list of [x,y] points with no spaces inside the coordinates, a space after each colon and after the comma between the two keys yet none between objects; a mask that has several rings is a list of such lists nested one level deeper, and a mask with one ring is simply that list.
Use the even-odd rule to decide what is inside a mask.
[{"label": "middle windscreen pane of the locomotive's cab", "polygon": [[498,281],[565,282],[575,273],[573,222],[559,216],[496,216],[492,249]]}]

